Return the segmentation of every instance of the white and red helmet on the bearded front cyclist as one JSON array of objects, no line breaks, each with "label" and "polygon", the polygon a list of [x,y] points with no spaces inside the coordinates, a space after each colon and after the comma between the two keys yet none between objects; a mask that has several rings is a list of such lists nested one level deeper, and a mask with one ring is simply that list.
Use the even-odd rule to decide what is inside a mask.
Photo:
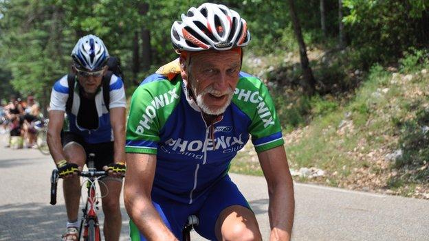
[{"label": "white and red helmet on the bearded front cyclist", "polygon": [[240,14],[225,5],[203,3],[181,14],[171,27],[176,51],[228,50],[250,42],[248,25]]}]

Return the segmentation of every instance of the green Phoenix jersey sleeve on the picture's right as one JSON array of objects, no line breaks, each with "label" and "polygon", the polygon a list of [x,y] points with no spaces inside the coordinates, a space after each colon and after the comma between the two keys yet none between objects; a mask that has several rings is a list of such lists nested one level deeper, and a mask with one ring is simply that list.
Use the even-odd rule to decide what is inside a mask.
[{"label": "green Phoenix jersey sleeve on the picture's right", "polygon": [[256,152],[282,146],[281,125],[274,102],[265,84],[258,78],[246,76],[237,85],[236,101],[251,119],[248,127]]}]

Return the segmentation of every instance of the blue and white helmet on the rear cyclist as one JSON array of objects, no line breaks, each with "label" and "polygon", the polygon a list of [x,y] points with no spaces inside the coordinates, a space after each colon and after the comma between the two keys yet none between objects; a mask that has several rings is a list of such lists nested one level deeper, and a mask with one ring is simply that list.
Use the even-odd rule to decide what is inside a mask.
[{"label": "blue and white helmet on the rear cyclist", "polygon": [[72,58],[77,69],[98,71],[106,66],[109,52],[98,36],[89,34],[79,39],[72,51]]}]

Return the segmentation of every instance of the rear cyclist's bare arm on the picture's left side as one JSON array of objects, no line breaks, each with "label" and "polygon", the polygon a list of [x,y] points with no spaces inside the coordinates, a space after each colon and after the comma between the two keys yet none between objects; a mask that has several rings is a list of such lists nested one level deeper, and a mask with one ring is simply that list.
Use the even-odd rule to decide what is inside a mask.
[{"label": "rear cyclist's bare arm on the picture's left side", "polygon": [[50,122],[47,126],[47,146],[50,148],[55,164],[64,160],[63,145],[61,144],[61,129],[63,129],[65,111],[50,111]]}]

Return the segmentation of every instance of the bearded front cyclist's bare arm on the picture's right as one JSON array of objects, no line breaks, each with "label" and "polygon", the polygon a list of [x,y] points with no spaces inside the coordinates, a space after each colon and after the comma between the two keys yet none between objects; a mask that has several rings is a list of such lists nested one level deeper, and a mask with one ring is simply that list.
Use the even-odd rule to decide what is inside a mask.
[{"label": "bearded front cyclist's bare arm on the picture's right", "polygon": [[287,165],[286,152],[278,146],[258,154],[268,185],[270,240],[290,240],[294,224],[294,183]]}]

